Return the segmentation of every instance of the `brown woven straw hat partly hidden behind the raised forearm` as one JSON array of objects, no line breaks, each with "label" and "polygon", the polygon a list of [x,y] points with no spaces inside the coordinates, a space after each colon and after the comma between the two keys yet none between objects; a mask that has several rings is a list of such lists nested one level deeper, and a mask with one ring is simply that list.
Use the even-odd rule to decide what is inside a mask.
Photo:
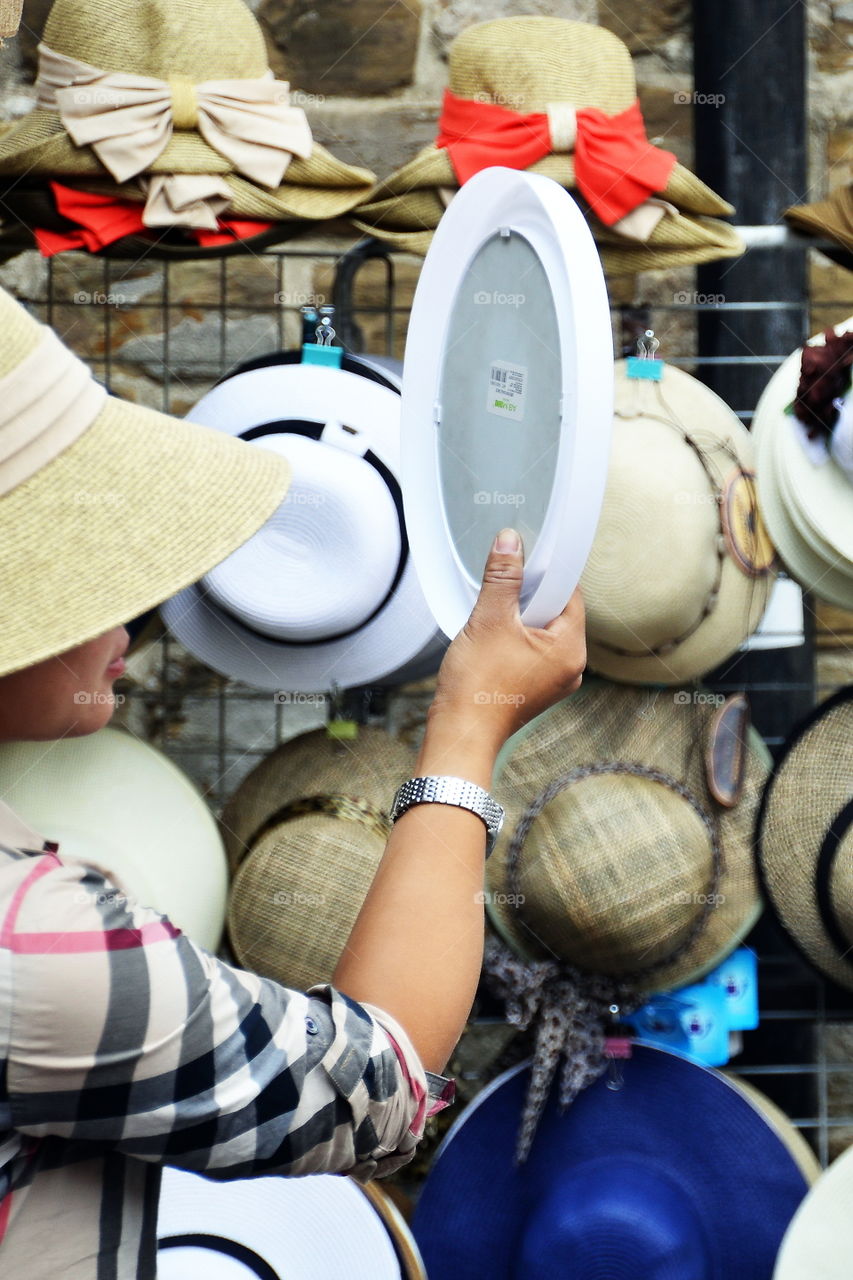
[{"label": "brown woven straw hat partly hidden behind the raised forearm", "polygon": [[415,754],[384,730],[316,730],[263,760],[225,805],[236,874],[228,936],[246,969],[305,989],[329,982],[373,883]]}]

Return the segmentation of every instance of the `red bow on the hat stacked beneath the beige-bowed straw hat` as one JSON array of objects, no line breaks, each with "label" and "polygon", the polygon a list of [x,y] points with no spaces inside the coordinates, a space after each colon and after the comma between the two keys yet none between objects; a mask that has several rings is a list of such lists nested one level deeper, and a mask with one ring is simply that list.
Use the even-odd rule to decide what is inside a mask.
[{"label": "red bow on the hat stacked beneath the beige-bowed straw hat", "polygon": [[[124,236],[149,234],[150,227],[142,221],[143,205],[133,205],[114,196],[95,196],[87,191],[72,191],[59,182],[51,182],[50,189],[56,201],[56,209],[72,223],[73,232],[49,232],[41,227],[35,230],[36,243],[44,257],[53,257],[65,250],[85,248],[96,253],[100,248],[113,244]],[[234,241],[248,239],[260,232],[269,230],[273,223],[233,221],[219,219],[219,232],[192,229],[193,238],[202,248],[219,244],[233,244]]]}]

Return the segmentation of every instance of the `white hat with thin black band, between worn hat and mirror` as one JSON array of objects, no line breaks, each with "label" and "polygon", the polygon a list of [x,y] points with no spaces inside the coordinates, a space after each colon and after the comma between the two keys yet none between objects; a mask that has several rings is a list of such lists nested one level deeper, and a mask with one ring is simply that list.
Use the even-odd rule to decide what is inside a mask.
[{"label": "white hat with thin black band, between worn hat and mirror", "polygon": [[402,684],[444,641],[415,575],[402,517],[400,378],[270,356],[241,366],[190,417],[293,467],[288,498],[254,538],[161,609],[215,671],[257,689]]}]

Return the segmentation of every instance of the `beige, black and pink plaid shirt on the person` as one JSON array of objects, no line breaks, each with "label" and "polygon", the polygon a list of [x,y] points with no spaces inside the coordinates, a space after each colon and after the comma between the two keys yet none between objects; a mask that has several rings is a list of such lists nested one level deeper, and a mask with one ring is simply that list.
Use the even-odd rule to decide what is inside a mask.
[{"label": "beige, black and pink plaid shirt on the person", "polygon": [[0,804],[0,1275],[150,1280],[160,1166],[406,1164],[452,1084],[387,1014],[195,946]]}]

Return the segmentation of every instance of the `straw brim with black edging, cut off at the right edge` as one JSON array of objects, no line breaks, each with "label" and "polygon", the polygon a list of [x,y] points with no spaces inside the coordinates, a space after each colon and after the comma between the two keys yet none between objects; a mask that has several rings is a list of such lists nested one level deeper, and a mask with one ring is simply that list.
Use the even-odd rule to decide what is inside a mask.
[{"label": "straw brim with black edging, cut off at the right edge", "polygon": [[818,902],[821,850],[850,803],[853,685],[806,717],[767,782],[757,822],[757,864],[776,919],[804,959],[853,991],[853,952],[841,954]]}]

